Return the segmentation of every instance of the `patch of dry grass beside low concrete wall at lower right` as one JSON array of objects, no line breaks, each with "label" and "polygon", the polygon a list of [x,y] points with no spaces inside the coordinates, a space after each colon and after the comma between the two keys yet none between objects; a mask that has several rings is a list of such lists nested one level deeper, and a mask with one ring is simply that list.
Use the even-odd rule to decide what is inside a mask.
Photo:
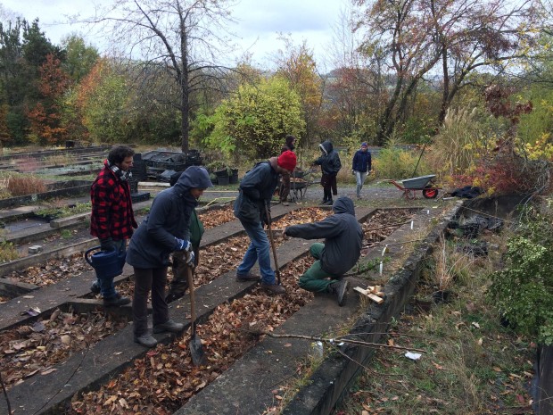
[{"label": "patch of dry grass beside low concrete wall at lower right", "polygon": [[421,281],[417,295],[448,278],[453,298],[425,312],[410,304],[389,340],[426,353],[411,361],[404,352],[377,351],[334,415],[532,413],[526,386],[535,351],[529,339],[500,325],[499,311],[486,297],[488,275],[500,266],[502,238],[483,237],[495,246],[487,257],[459,253],[451,241],[435,246],[426,273],[443,275]]}]

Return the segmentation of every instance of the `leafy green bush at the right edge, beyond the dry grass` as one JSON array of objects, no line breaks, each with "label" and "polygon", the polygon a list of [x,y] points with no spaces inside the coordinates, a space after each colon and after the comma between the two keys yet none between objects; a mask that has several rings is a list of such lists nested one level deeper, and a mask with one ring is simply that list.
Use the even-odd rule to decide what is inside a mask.
[{"label": "leafy green bush at the right edge, beyond the dry grass", "polygon": [[517,332],[550,345],[553,344],[553,226],[550,217],[531,213],[531,219],[517,229],[515,237],[509,238],[506,267],[492,274],[489,295]]}]

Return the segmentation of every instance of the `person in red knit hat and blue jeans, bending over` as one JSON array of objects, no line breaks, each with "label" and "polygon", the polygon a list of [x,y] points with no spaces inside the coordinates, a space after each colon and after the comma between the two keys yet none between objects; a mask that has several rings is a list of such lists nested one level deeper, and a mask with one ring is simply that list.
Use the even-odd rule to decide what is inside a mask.
[{"label": "person in red knit hat and blue jeans, bending over", "polygon": [[[290,175],[296,167],[296,154],[287,150],[267,162],[258,162],[240,181],[235,200],[235,217],[240,220],[250,245],[236,270],[237,281],[260,280],[261,288],[270,295],[283,295],[286,290],[276,283],[275,271],[271,268],[270,245],[263,229],[268,224],[265,212],[270,212],[270,202],[278,185],[278,175]],[[252,274],[255,262],[259,261],[261,276]]]}]

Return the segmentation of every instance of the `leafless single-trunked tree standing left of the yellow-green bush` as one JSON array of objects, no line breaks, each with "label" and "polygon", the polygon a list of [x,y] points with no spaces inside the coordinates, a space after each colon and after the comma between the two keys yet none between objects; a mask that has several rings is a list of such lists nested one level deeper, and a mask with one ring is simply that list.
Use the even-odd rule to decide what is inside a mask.
[{"label": "leafless single-trunked tree standing left of the yellow-green bush", "polygon": [[[220,62],[230,47],[231,0],[116,0],[87,22],[103,24],[119,58],[140,69],[143,94],[181,116],[181,148],[189,149],[191,111],[206,91],[224,87]],[[219,61],[219,62],[218,62]],[[172,82],[160,88],[162,78]],[[151,87],[155,86],[155,87]],[[160,91],[162,91],[160,93]]]}]

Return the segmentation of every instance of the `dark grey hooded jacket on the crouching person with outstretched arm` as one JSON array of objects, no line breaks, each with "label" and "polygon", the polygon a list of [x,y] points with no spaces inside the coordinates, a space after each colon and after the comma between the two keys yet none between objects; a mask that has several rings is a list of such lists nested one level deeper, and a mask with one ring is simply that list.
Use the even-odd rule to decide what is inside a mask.
[{"label": "dark grey hooded jacket on the crouching person with outstretched arm", "polygon": [[359,260],[363,231],[355,218],[353,202],[341,196],[332,206],[334,215],[315,223],[293,225],[285,229],[289,237],[325,238],[321,266],[329,274],[343,275]]}]

